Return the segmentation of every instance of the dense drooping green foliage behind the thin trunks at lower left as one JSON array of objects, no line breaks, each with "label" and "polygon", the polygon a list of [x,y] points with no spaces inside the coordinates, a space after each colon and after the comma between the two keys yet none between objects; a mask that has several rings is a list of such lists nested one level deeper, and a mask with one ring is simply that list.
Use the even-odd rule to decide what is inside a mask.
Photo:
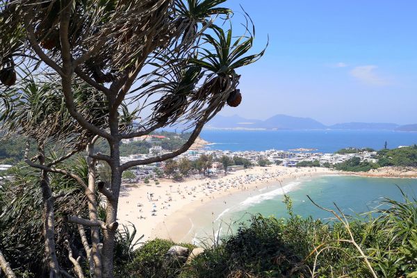
[{"label": "dense drooping green foliage behind the thin trunks at lower left", "polygon": [[[69,167],[80,173],[86,172],[83,158],[76,159]],[[42,277],[45,262],[42,259],[44,235],[39,173],[28,167],[13,167],[8,174],[0,183],[0,248],[18,277]],[[86,215],[86,200],[72,179],[54,174],[50,180],[52,190],[60,193],[55,222],[58,259],[63,268],[70,269],[72,265],[67,261],[64,242],[69,240],[76,254],[82,251],[82,244],[77,237],[76,225],[65,222],[65,215]]]}]

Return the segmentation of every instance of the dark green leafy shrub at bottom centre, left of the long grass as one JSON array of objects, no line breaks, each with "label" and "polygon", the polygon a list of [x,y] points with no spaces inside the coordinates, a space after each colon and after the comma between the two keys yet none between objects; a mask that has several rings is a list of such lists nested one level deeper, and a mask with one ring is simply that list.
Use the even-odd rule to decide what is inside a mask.
[{"label": "dark green leafy shrub at bottom centre, left of the long grass", "polygon": [[198,256],[180,277],[303,277],[302,257],[283,240],[283,220],[254,215],[234,236]]}]

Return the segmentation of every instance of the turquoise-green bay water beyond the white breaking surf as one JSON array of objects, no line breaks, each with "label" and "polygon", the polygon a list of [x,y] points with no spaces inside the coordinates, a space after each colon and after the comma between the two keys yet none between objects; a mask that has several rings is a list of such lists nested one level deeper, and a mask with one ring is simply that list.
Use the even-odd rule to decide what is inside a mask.
[{"label": "turquoise-green bay water beyond the white breaking surf", "polygon": [[[302,216],[312,215],[314,218],[329,218],[328,212],[310,202],[307,195],[317,204],[326,208],[335,208],[336,203],[343,213],[354,215],[373,210],[383,197],[402,200],[398,187],[409,196],[416,196],[416,179],[385,179],[352,176],[327,176],[306,181],[300,181],[293,190],[287,194],[293,200],[293,211]],[[285,188],[284,188],[285,190]],[[274,192],[275,196],[268,193]],[[282,190],[272,190],[260,193],[246,199],[246,206],[235,211],[229,217],[238,219],[245,213],[261,213],[262,215],[275,215],[286,217],[286,208],[283,203]]]}]

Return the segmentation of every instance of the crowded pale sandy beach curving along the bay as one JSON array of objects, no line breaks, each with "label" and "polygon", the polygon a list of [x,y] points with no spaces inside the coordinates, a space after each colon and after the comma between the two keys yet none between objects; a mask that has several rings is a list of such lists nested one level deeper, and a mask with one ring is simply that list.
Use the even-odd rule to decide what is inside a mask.
[{"label": "crowded pale sandy beach curving along the bay", "polygon": [[171,179],[160,180],[160,184],[143,183],[124,185],[120,195],[118,221],[121,224],[131,222],[138,229],[141,241],[152,238],[171,238],[184,241],[192,238],[193,222],[187,215],[204,208],[202,218],[215,218],[216,207],[207,208],[213,200],[222,203],[222,198],[234,193],[261,190],[272,183],[285,183],[300,177],[312,177],[324,174],[338,174],[334,170],[322,167],[290,168],[277,165],[253,167],[238,170],[221,177],[191,178],[175,182]]}]

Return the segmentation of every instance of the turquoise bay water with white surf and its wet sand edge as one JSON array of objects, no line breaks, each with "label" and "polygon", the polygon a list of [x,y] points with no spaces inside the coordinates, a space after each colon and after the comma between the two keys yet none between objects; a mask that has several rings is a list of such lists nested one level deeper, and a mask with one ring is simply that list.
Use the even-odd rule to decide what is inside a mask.
[{"label": "turquoise bay water with white surf and its wet sand edge", "polygon": [[[377,216],[378,210],[389,207],[387,198],[416,202],[417,179],[325,175],[300,177],[283,186],[271,183],[267,188],[214,199],[192,215],[187,215],[193,224],[193,234],[188,234],[183,240],[196,245],[211,244],[213,240],[234,234],[238,227],[249,224],[250,218],[257,214],[288,218],[284,195],[291,198],[294,215],[303,218],[332,222],[334,215],[322,209],[328,208],[340,209],[347,217],[368,220],[370,216]],[[202,216],[202,211],[209,214],[208,210],[213,211],[213,218]]]}]

